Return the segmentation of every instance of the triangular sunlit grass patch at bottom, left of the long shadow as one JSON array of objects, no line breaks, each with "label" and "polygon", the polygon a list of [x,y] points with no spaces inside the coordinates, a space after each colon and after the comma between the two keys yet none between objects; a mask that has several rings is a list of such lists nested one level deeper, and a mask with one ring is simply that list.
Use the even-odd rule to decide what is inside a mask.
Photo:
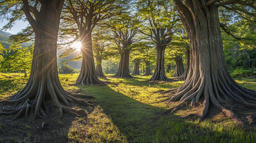
[{"label": "triangular sunlit grass patch at bottom, left of the long shadow", "polygon": [[126,137],[120,133],[111,119],[103,113],[98,106],[88,118],[76,118],[73,126],[69,129],[70,142],[86,143],[126,143]]}]

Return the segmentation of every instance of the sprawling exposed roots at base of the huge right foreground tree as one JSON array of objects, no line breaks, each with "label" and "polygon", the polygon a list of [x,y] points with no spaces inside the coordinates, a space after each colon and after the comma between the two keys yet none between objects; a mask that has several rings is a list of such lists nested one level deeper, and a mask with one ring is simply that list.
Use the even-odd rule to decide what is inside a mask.
[{"label": "sprawling exposed roots at base of the huge right foreground tree", "polygon": [[[170,89],[166,91],[159,90],[160,93],[167,93],[168,98],[161,100],[172,102],[180,101],[174,107],[171,107],[164,111],[164,113],[173,113],[185,106],[187,102],[191,102],[190,106],[194,106],[195,102],[199,102],[200,98],[203,98],[203,111],[200,119],[203,119],[209,108],[211,102],[216,108],[221,110],[226,116],[233,121],[238,122],[241,125],[244,123],[239,119],[231,110],[230,107],[234,108],[237,104],[242,104],[248,108],[256,108],[256,104],[248,103],[246,100],[256,100],[252,96],[256,96],[256,92],[253,90],[246,89],[238,85],[230,76],[224,78],[231,82],[226,82],[217,78],[212,83],[207,83],[205,79],[200,78],[197,82],[191,82],[192,79],[186,80],[180,87]],[[166,97],[162,96],[162,97]]]}]

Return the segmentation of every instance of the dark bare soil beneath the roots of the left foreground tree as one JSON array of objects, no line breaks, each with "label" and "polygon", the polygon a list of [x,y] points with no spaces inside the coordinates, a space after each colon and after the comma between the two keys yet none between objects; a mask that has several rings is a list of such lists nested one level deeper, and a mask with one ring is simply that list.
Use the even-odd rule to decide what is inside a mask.
[{"label": "dark bare soil beneath the roots of the left foreground tree", "polygon": [[[76,104],[71,104],[68,107],[82,108],[88,112],[88,115],[94,111],[94,107],[78,106]],[[83,119],[83,122],[87,122],[88,115],[64,114],[60,117],[57,108],[50,109],[49,114],[47,114],[48,118],[38,117],[35,119],[33,112],[30,112],[28,119],[22,116],[19,119],[12,120],[14,116],[2,115],[0,116],[0,138],[2,138],[3,143],[12,143],[15,140],[19,140],[18,142],[66,143],[69,141],[67,134],[73,126],[73,122],[80,118]],[[45,122],[44,128],[42,127],[43,122]]]}]

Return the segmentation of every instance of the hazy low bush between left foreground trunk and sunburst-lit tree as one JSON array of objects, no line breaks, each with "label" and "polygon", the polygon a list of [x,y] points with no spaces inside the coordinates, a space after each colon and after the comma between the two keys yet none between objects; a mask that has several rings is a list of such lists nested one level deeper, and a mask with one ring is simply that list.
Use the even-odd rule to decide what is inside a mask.
[{"label": "hazy low bush between left foreground trunk and sunburst-lit tree", "polygon": [[60,74],[72,74],[72,73],[78,73],[79,71],[77,69],[72,68],[71,65],[68,65],[68,60],[63,59],[62,61],[59,61],[59,73]]}]

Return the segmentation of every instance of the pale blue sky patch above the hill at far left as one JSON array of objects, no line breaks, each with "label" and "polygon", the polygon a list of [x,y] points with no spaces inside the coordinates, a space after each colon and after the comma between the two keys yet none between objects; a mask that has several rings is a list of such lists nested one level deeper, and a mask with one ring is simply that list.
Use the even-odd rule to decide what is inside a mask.
[{"label": "pale blue sky patch above the hill at far left", "polygon": [[[5,26],[8,22],[6,20],[3,20],[3,22],[0,22],[0,29]],[[11,34],[16,34],[18,33],[19,31],[21,31],[21,29],[25,29],[27,26],[29,25],[29,22],[26,21],[17,21],[15,23],[15,25],[13,25],[13,27],[11,29],[7,29],[7,30],[3,30],[5,32],[9,32]]]}]

